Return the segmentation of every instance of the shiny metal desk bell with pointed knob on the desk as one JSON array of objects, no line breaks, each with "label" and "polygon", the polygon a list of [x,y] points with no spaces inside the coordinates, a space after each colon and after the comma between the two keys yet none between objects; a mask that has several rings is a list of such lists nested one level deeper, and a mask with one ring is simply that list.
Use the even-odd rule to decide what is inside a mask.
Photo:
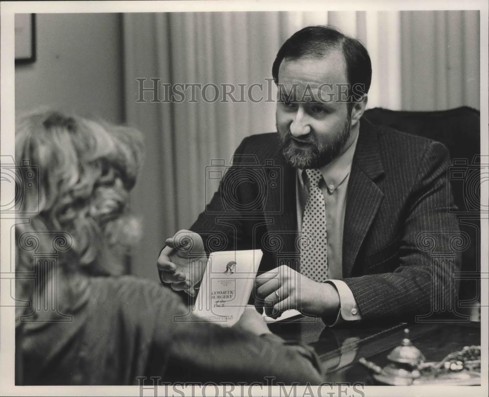
[{"label": "shiny metal desk bell with pointed knob on the desk", "polygon": [[360,364],[372,371],[374,378],[383,384],[408,386],[421,376],[419,365],[425,361],[422,352],[409,339],[409,329],[404,329],[404,338],[400,346],[392,350],[387,359],[391,361],[384,368],[365,358],[360,358]]}]

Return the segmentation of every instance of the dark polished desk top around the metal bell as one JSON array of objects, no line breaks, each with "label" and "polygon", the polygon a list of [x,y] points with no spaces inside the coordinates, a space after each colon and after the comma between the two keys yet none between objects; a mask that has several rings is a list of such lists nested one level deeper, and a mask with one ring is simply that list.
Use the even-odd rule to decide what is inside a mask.
[{"label": "dark polished desk top around the metal bell", "polygon": [[308,344],[318,354],[327,382],[375,384],[367,369],[358,364],[361,357],[383,367],[387,355],[400,344],[404,328],[427,361],[440,361],[464,346],[480,345],[480,323],[359,323],[325,327],[321,319],[297,318],[275,323],[270,330],[287,340]]}]

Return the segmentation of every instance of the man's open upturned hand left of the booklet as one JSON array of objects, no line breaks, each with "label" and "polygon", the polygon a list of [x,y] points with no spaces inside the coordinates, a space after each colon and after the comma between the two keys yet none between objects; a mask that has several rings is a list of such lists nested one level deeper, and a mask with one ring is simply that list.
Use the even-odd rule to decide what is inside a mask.
[{"label": "man's open upturned hand left of the booklet", "polygon": [[194,285],[202,280],[207,264],[202,237],[188,230],[180,230],[167,238],[156,265],[159,279],[169,283],[175,291],[186,291],[195,296]]}]

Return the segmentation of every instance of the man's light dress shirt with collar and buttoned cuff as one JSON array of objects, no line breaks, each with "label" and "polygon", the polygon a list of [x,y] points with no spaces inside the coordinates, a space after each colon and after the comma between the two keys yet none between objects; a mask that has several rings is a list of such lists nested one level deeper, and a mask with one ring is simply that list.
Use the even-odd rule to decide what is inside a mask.
[{"label": "man's light dress shirt with collar and buttoned cuff", "polygon": [[[326,204],[326,225],[328,230],[328,274],[331,283],[338,291],[341,309],[333,324],[336,325],[342,320],[356,321],[361,320],[361,315],[356,304],[355,297],[348,285],[342,281],[343,266],[343,224],[345,220],[346,192],[350,170],[352,168],[353,155],[355,153],[358,134],[350,147],[331,163],[320,168],[324,181],[319,187],[323,192]],[[299,232],[302,230],[302,216],[306,201],[309,196],[309,181],[306,173],[297,169],[296,178],[296,202],[297,202],[297,227]]]}]

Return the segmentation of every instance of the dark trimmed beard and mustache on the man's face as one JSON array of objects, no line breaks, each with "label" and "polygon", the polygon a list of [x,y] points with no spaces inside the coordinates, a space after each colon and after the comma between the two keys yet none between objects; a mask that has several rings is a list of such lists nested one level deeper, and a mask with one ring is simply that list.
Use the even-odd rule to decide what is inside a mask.
[{"label": "dark trimmed beard and mustache on the man's face", "polygon": [[318,143],[314,135],[310,133],[305,142],[312,143],[313,146],[307,149],[296,148],[293,146],[290,130],[285,135],[279,133],[282,153],[287,163],[294,168],[321,168],[326,164],[331,163],[333,159],[342,153],[346,142],[350,138],[351,128],[351,117],[348,117],[343,129],[336,134],[333,140],[327,145]]}]

